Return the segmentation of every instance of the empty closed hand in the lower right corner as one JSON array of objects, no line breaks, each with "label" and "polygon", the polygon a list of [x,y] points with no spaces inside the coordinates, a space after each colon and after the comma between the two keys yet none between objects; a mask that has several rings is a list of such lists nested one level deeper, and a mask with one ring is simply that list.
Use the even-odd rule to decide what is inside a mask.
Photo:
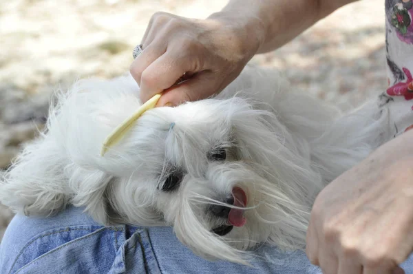
[{"label": "empty closed hand in the lower right corner", "polygon": [[324,274],[404,273],[413,248],[413,131],[383,145],[315,200],[306,253]]}]

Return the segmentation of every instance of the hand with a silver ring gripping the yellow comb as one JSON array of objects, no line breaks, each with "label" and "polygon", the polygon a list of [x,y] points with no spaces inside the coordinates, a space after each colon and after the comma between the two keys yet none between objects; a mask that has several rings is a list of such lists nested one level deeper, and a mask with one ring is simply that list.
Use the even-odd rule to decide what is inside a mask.
[{"label": "hand with a silver ring gripping the yellow comb", "polygon": [[[257,52],[263,35],[259,21],[231,17],[220,12],[206,20],[154,14],[142,39],[143,52],[130,69],[142,101],[163,91],[158,105],[179,105],[229,85]],[[183,74],[186,81],[174,85]]]}]

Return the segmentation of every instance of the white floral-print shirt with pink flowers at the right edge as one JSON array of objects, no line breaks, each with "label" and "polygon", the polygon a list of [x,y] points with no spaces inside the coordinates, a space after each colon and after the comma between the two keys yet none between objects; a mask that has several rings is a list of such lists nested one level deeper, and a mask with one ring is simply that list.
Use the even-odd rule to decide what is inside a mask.
[{"label": "white floral-print shirt with pink flowers at the right edge", "polygon": [[380,98],[397,136],[413,127],[413,1],[385,0],[385,17],[388,89]]}]

